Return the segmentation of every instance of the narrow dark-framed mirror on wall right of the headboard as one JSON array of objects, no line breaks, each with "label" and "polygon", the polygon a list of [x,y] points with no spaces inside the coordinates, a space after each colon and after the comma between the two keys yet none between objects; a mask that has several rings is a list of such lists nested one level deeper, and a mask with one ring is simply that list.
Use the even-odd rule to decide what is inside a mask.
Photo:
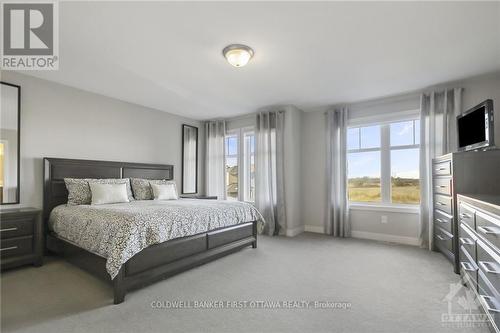
[{"label": "narrow dark-framed mirror on wall right of the headboard", "polygon": [[198,192],[198,127],[182,125],[182,194]]}]

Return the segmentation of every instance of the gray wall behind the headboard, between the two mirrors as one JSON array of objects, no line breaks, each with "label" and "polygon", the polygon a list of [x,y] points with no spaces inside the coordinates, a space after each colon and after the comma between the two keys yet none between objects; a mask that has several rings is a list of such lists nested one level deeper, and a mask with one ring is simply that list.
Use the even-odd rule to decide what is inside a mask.
[{"label": "gray wall behind the headboard, between the two mirrors", "polygon": [[173,164],[180,190],[183,123],[199,127],[203,193],[200,122],[14,72],[2,80],[21,86],[21,206],[42,207],[43,157]]}]

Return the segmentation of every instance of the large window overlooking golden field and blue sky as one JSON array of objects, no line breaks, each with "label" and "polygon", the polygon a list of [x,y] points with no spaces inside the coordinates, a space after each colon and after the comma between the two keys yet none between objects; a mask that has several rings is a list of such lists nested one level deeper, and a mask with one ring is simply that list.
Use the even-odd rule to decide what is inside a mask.
[{"label": "large window overlooking golden field and blue sky", "polygon": [[419,146],[417,119],[349,128],[349,201],[420,203]]}]

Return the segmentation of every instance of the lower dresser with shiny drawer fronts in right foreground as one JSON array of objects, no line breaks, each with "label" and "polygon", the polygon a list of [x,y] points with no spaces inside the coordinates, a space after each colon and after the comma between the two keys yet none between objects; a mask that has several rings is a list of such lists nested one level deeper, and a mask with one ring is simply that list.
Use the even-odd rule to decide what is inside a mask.
[{"label": "lower dresser with shiny drawer fronts in right foreground", "polygon": [[458,195],[458,212],[460,273],[500,332],[500,195]]}]

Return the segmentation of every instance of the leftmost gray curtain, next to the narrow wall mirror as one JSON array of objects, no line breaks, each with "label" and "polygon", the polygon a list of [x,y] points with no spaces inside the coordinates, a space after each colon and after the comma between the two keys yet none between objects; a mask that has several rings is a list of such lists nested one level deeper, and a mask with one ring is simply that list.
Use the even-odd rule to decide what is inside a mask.
[{"label": "leftmost gray curtain, next to the narrow wall mirror", "polygon": [[216,195],[219,200],[226,199],[225,135],[225,121],[205,123],[205,189],[207,195]]}]

